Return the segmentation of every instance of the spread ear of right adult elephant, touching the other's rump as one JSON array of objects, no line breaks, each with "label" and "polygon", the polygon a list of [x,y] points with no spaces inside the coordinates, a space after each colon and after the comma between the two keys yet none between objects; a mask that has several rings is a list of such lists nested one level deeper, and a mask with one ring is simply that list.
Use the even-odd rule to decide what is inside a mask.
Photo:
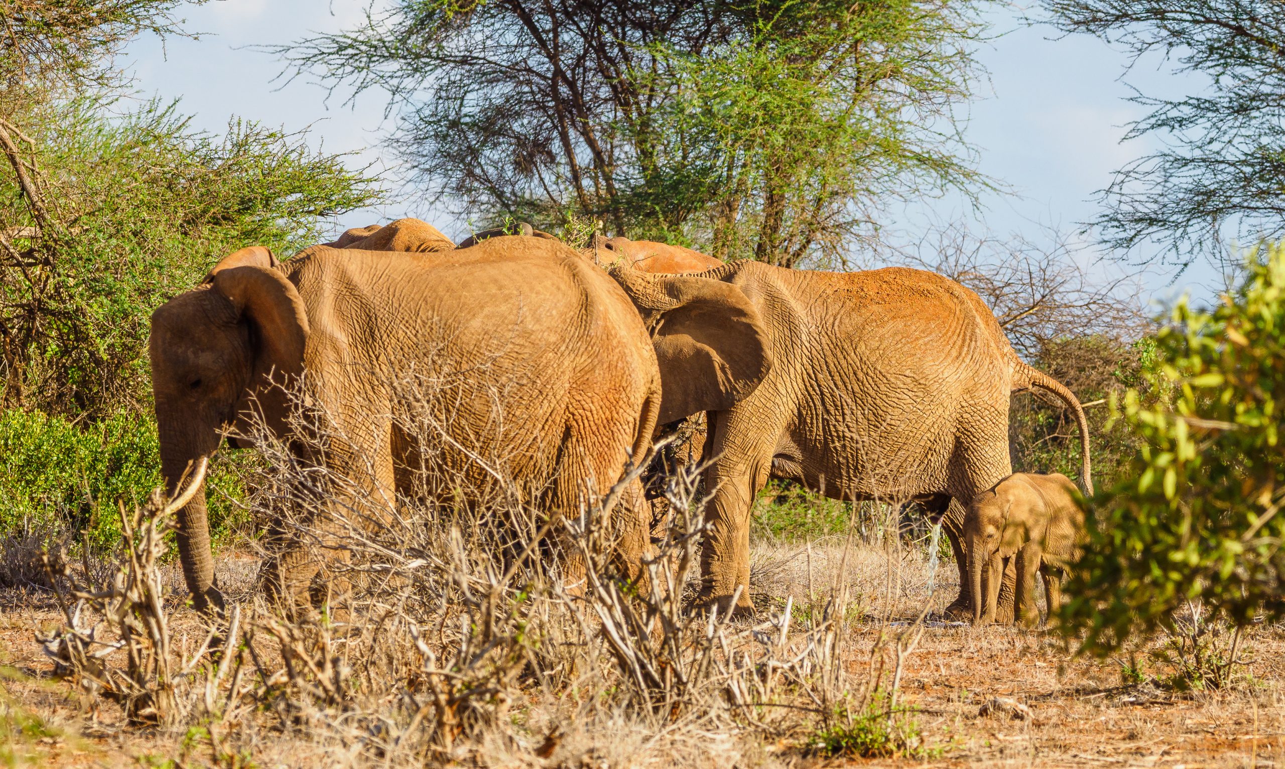
[{"label": "spread ear of right adult elephant, touching the other's rump", "polygon": [[767,330],[739,288],[721,280],[649,275],[618,265],[617,283],[651,332],[664,424],[730,409],[771,370]]}]

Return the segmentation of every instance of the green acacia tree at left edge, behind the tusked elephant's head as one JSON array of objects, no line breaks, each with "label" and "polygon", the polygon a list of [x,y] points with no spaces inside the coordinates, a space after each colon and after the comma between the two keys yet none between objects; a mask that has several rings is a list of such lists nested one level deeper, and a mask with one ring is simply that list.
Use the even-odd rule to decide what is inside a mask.
[{"label": "green acacia tree at left edge, behind the tusked elephant's head", "polygon": [[341,157],[234,121],[132,112],[114,57],[181,33],[175,0],[0,0],[0,408],[143,410],[148,316],[248,243],[315,242],[373,202]]}]

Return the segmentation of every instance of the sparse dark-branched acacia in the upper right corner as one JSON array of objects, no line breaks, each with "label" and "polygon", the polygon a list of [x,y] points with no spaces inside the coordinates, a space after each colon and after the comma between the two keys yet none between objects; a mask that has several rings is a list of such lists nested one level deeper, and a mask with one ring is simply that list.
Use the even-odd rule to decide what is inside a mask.
[{"label": "sparse dark-branched acacia in the upper right corner", "polygon": [[1228,233],[1285,235],[1285,4],[1279,0],[1046,0],[1067,32],[1117,42],[1135,60],[1159,54],[1200,91],[1139,94],[1151,112],[1127,139],[1162,149],[1115,172],[1092,224],[1117,248],[1155,240],[1190,264]]}]

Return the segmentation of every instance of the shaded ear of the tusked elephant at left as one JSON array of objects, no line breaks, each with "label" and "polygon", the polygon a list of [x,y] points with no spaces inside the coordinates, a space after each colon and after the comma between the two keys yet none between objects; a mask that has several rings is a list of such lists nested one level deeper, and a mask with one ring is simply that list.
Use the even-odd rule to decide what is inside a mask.
[{"label": "shaded ear of the tusked elephant at left", "polygon": [[299,292],[278,270],[257,265],[224,267],[226,261],[212,271],[212,288],[227,297],[236,316],[254,329],[253,382],[262,383],[272,372],[278,383],[283,377],[299,377],[308,338],[308,316]]}]

